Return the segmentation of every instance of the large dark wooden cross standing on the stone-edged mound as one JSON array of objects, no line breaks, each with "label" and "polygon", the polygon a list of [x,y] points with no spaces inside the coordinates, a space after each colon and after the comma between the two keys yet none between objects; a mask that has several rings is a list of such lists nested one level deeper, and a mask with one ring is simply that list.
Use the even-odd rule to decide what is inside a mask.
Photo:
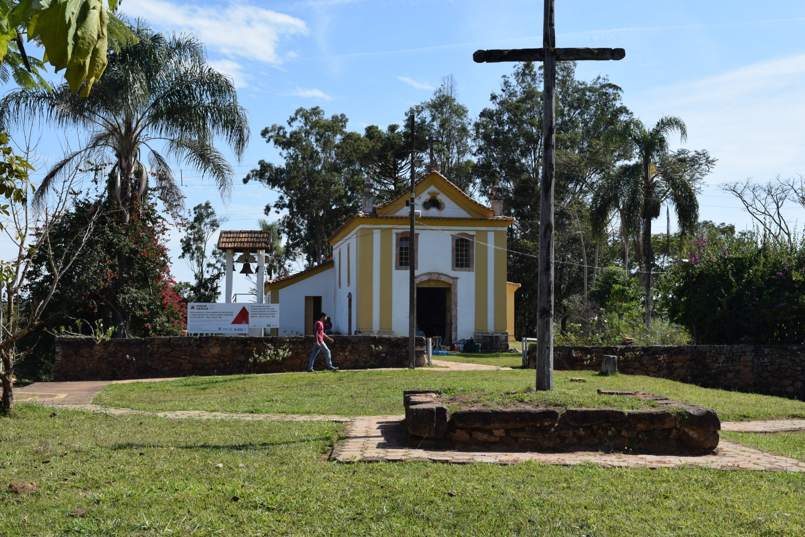
[{"label": "large dark wooden cross standing on the stone-edged mound", "polygon": [[622,48],[556,48],[554,0],[545,0],[543,48],[476,51],[473,60],[482,64],[501,61],[544,62],[543,77],[543,177],[539,200],[539,286],[537,290],[537,390],[553,390],[554,314],[554,176],[556,171],[556,62],[621,60]]}]

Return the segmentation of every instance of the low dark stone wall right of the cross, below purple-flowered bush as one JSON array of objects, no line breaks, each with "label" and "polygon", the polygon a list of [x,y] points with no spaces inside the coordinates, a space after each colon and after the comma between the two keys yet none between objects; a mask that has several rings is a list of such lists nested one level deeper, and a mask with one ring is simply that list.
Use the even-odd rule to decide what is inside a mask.
[{"label": "low dark stone wall right of the cross, below purple-flowered bush", "polygon": [[[535,353],[529,345],[529,366]],[[708,388],[805,397],[805,345],[614,345],[554,348],[554,370],[601,370],[601,356],[617,356],[617,370],[670,378]]]}]

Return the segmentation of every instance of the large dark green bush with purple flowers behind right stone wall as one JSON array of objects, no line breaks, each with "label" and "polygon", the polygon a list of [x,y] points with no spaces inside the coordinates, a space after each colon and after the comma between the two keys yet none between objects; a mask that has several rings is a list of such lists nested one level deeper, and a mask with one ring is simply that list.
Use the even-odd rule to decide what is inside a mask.
[{"label": "large dark green bush with purple flowers behind right stone wall", "polygon": [[671,320],[700,344],[805,343],[805,245],[702,236],[661,285]]}]

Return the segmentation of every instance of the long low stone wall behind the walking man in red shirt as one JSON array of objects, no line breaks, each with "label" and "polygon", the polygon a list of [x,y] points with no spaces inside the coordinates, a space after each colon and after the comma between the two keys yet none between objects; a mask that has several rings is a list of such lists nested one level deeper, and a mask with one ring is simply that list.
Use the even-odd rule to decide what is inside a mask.
[{"label": "long low stone wall behind the walking man in red shirt", "polygon": [[[406,367],[408,338],[332,336],[333,366],[344,370]],[[417,366],[425,365],[425,338],[417,337]],[[255,360],[266,349],[283,351],[281,359]],[[282,373],[308,369],[312,336],[294,337],[144,337],[96,343],[89,338],[56,338],[54,380],[119,380],[244,373]],[[277,354],[275,353],[275,358]],[[316,356],[324,369],[324,355]]]}]

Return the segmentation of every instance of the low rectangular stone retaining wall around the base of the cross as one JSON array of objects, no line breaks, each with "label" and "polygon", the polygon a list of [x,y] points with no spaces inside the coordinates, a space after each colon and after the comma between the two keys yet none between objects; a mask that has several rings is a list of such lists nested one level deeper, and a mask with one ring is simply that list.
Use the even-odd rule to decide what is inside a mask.
[{"label": "low rectangular stone retaining wall around the base of the cross", "polygon": [[662,408],[481,408],[451,413],[434,391],[404,392],[408,432],[419,443],[425,439],[452,440],[453,447],[459,449],[711,450],[718,446],[721,428],[712,409],[651,394],[642,395],[662,403]]}]

